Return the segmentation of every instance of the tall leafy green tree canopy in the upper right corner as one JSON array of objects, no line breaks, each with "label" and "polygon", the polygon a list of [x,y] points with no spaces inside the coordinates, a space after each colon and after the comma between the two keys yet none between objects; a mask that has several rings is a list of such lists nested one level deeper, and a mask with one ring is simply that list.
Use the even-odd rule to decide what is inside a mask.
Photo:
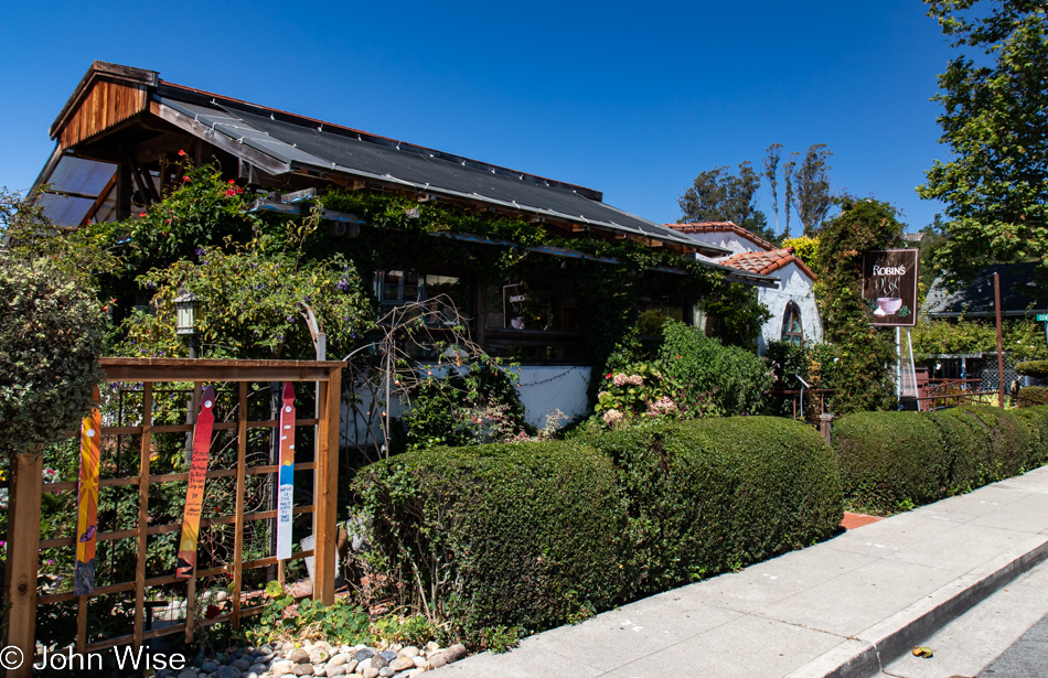
[{"label": "tall leafy green tree canopy in the upper right corner", "polygon": [[940,265],[965,277],[987,262],[1048,268],[1048,9],[1031,0],[926,0],[960,54],[939,76],[942,143],[918,187],[945,203]]}]

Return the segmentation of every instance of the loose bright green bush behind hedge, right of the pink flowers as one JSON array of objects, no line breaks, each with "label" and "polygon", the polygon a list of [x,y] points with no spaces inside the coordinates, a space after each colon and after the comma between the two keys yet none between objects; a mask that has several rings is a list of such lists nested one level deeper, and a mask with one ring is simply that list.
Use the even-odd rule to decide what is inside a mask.
[{"label": "loose bright green bush behind hedge, right of the pink flowers", "polygon": [[709,394],[726,416],[757,411],[772,381],[763,358],[738,346],[725,346],[674,320],[667,320],[662,331],[659,358],[691,400]]}]

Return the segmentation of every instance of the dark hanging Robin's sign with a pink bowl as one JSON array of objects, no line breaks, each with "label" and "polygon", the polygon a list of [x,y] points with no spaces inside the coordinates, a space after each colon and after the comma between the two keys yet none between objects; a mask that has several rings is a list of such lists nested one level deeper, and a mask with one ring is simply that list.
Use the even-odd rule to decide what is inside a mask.
[{"label": "dark hanging Robin's sign with a pink bowl", "polygon": [[916,249],[876,249],[863,254],[863,300],[875,326],[917,324]]}]

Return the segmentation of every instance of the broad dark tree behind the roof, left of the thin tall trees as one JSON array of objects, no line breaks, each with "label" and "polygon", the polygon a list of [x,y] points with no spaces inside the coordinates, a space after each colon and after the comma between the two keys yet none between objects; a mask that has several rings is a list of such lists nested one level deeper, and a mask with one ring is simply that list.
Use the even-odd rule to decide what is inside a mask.
[{"label": "broad dark tree behind the roof, left of the thin tall trees", "polygon": [[768,218],[757,208],[760,175],[748,160],[739,163],[738,174],[727,165],[707,170],[695,177],[677,203],[681,222],[732,222],[759,237],[774,238],[768,232]]}]

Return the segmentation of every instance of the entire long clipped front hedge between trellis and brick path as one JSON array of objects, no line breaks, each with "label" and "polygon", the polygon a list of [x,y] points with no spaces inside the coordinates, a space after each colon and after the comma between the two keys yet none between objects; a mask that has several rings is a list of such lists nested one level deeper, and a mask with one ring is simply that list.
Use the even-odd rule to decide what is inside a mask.
[{"label": "entire long clipped front hedge between trellis and brick path", "polygon": [[843,514],[831,448],[768,417],[407,453],[355,489],[389,592],[474,647],[811,545]]}]

